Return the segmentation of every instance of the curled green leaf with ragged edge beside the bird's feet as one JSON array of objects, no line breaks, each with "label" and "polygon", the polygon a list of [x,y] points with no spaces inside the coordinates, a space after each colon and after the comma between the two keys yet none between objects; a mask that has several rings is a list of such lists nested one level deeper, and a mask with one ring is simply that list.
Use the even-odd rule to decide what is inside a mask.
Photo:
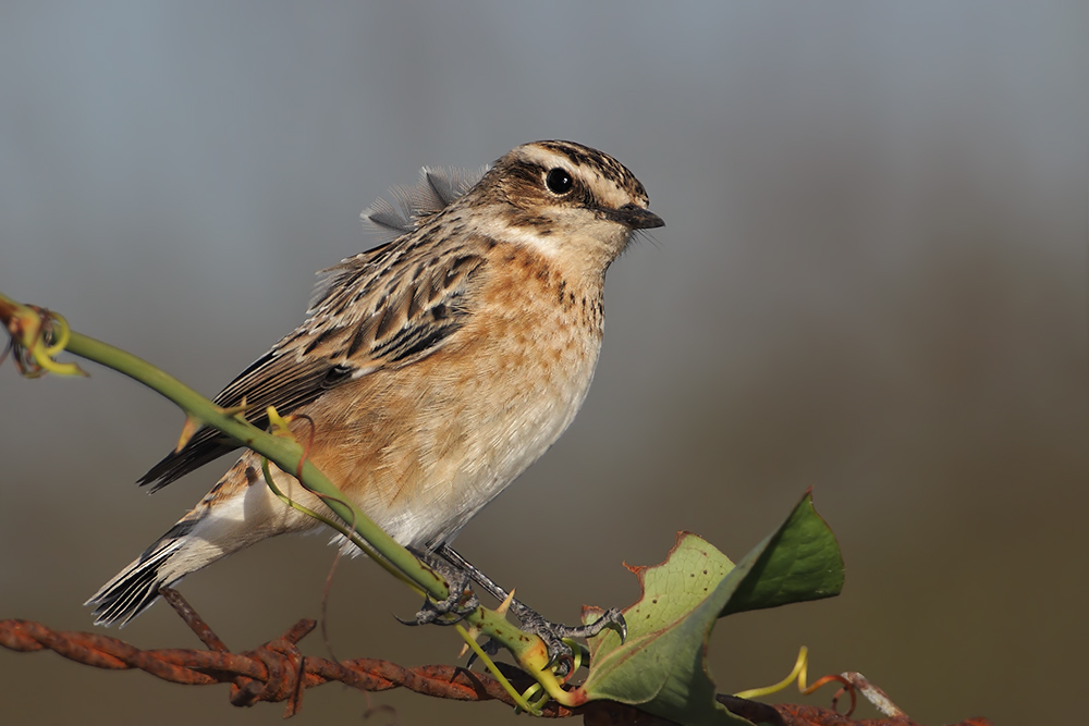
[{"label": "curled green leaf with ragged edge beside the bird's feet", "polygon": [[[681,532],[665,562],[631,567],[643,598],[624,611],[628,637],[590,640],[579,698],[638,705],[686,726],[749,724],[715,701],[707,673],[711,629],[722,615],[828,598],[843,587],[843,562],[809,492],[783,525],[736,566],[711,544]],[[592,617],[587,611],[584,619]]]}]

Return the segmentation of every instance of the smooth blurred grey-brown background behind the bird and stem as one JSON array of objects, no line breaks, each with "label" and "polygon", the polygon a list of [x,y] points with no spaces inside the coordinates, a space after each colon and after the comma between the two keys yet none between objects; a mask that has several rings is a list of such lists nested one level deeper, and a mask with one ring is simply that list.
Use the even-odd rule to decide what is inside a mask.
[{"label": "smooth blurred grey-brown background behind the bird and stem", "polygon": [[[424,164],[538,138],[627,164],[668,222],[611,270],[561,442],[460,549],[556,619],[637,596],[681,529],[733,557],[807,487],[841,598],[723,620],[725,691],[861,670],[926,724],[1070,723],[1089,648],[1082,2],[12,2],[0,5],[0,290],[213,395],[301,322],[362,209]],[[180,414],[122,377],[0,369],[0,617],[81,603],[204,494],[133,482]],[[319,612],[325,537],[183,592],[235,649]],[[342,563],[341,657],[450,663],[450,630]],[[159,604],[122,632],[197,647]],[[309,653],[326,654],[320,638]],[[808,699],[825,704],[831,689]],[[796,692],[783,696],[800,700]],[[498,704],[310,691],[294,723],[513,723]],[[3,724],[280,723],[0,650]],[[872,713],[872,711],[862,711]]]}]

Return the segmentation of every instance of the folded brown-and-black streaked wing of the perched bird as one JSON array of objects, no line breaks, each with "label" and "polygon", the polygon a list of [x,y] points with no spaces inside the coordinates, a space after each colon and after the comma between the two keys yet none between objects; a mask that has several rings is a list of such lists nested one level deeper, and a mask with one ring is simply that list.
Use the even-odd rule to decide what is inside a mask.
[{"label": "folded brown-and-black streaked wing of the perched bird", "polygon": [[[242,371],[216,404],[245,403],[246,419],[266,428],[268,406],[286,415],[347,381],[431,355],[464,324],[482,264],[466,247],[435,254],[405,237],[325,270],[307,321]],[[201,428],[138,483],[156,491],[238,445]]]}]

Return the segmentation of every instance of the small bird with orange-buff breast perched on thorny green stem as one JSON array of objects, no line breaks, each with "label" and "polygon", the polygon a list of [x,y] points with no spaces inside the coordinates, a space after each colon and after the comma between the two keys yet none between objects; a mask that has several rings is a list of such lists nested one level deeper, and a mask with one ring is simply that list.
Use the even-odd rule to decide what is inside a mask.
[{"label": "small bird with orange-buff breast perched on thorny green stem", "polygon": [[[452,540],[572,422],[601,349],[605,272],[664,222],[626,167],[573,141],[518,146],[475,183],[425,168],[419,187],[392,192],[400,209],[379,199],[364,212],[392,238],[321,271],[305,321],[215,402],[259,428],[269,406],[293,415],[309,460],[394,540],[482,576]],[[240,446],[201,428],[138,483],[154,492]],[[290,473],[272,476],[327,510]],[[123,627],[160,588],[318,527],[246,451],[86,604],[96,625]]]}]

